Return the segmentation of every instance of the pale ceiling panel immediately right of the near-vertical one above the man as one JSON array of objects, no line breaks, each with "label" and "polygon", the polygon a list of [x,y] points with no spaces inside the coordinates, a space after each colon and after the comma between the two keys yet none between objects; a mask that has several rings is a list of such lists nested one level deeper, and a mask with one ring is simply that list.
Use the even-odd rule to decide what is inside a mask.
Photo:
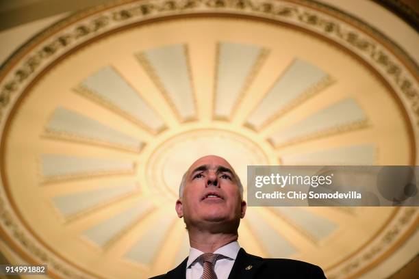
[{"label": "pale ceiling panel immediately right of the near-vertical one above the man", "polygon": [[257,105],[246,124],[253,129],[261,129],[272,118],[296,105],[297,101],[327,85],[329,80],[327,72],[302,59],[294,59]]}]

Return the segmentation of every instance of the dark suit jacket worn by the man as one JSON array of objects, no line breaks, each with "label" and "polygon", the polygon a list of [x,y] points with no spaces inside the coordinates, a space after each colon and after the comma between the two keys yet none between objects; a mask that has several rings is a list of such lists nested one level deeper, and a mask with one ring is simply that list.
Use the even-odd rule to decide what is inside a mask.
[{"label": "dark suit jacket worn by the man", "polygon": [[[186,279],[187,261],[188,258],[167,274],[151,279]],[[256,278],[325,279],[326,277],[317,265],[285,258],[261,258],[247,254],[243,248],[240,248],[228,279]]]}]

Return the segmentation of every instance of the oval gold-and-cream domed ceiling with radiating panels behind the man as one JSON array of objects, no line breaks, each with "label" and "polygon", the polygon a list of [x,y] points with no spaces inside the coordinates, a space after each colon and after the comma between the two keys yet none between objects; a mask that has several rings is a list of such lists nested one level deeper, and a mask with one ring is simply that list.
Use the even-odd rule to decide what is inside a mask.
[{"label": "oval gold-and-cream domed ceiling with radiating panels behind the man", "polygon": [[[418,84],[396,44],[316,2],[75,14],[1,69],[1,235],[53,278],[162,274],[188,254],[174,206],[195,159],[225,157],[244,185],[247,165],[417,165]],[[239,241],[355,278],[418,220],[416,207],[251,207]]]}]

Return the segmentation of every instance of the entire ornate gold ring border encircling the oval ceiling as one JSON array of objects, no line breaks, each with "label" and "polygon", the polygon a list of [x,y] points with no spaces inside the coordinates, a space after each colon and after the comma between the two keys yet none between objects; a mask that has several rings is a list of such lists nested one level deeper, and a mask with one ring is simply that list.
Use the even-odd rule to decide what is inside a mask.
[{"label": "entire ornate gold ring border encircling the oval ceiling", "polygon": [[[312,9],[312,10],[311,10]],[[18,213],[7,187],[7,178],[5,177],[4,150],[5,135],[10,126],[10,118],[16,109],[16,105],[21,102],[28,88],[34,85],[34,82],[45,73],[54,64],[58,63],[64,56],[76,51],[80,47],[89,44],[97,38],[108,36],[115,31],[125,29],[142,23],[149,23],[154,20],[164,20],[170,16],[211,16],[214,13],[218,16],[238,16],[245,18],[255,18],[258,20],[282,23],[294,26],[297,29],[304,29],[311,34],[317,34],[319,37],[331,40],[343,48],[353,51],[355,56],[363,57],[365,64],[377,73],[377,76],[383,75],[390,83],[387,83],[393,92],[399,96],[399,103],[407,109],[407,113],[414,125],[417,135],[419,123],[419,91],[418,91],[418,66],[409,60],[409,57],[398,49],[390,40],[385,39],[381,34],[361,24],[341,12],[331,11],[317,3],[308,3],[306,1],[240,1],[240,0],[218,0],[218,1],[139,1],[138,3],[126,3],[110,6],[101,14],[86,15],[85,13],[71,16],[52,29],[45,31],[28,43],[29,47],[18,51],[16,55],[0,70],[0,122],[1,122],[1,178],[5,185],[0,189],[0,231],[10,243],[14,243],[21,255],[29,259],[31,263],[48,262],[52,274],[57,277],[66,276],[68,278],[91,278],[90,271],[81,269],[72,263],[68,263],[65,257],[59,254],[51,256],[53,250],[43,243],[41,239],[33,239],[36,234],[25,224],[22,216]],[[323,16],[320,12],[329,16],[336,16],[330,19]],[[344,17],[342,19],[342,17]],[[336,21],[343,20],[340,23]],[[81,23],[77,23],[81,21]],[[349,25],[344,26],[344,21]],[[75,24],[77,23],[77,24]],[[75,26],[73,26],[75,25]],[[353,26],[351,26],[353,25]],[[390,46],[389,49],[382,47],[366,36],[355,31],[355,28],[361,29],[377,39],[379,43]],[[54,37],[58,32],[60,36]],[[396,49],[396,51],[393,51]],[[392,55],[395,55],[393,57]],[[400,59],[400,61],[398,60]],[[362,59],[361,59],[362,60]],[[385,80],[382,78],[382,80]],[[407,103],[407,106],[403,104]],[[410,118],[407,117],[410,123]],[[411,137],[414,141],[416,137]],[[415,146],[412,144],[412,146]],[[416,150],[416,148],[413,148]],[[416,152],[413,159],[416,159]],[[415,163],[413,161],[412,163]],[[392,243],[386,239],[405,239],[413,232],[413,227],[409,226],[418,223],[418,209],[403,209],[403,214],[399,214],[394,222],[396,224],[388,230],[381,238],[379,246],[380,251],[391,246]],[[16,217],[18,215],[19,217]],[[412,222],[412,220],[414,220]],[[409,226],[409,230],[405,229]],[[13,237],[11,237],[13,236]],[[17,242],[16,242],[17,240]],[[398,243],[400,245],[401,243]],[[364,252],[364,258],[373,259],[373,256],[379,252],[374,248],[368,248]],[[390,250],[395,249],[397,245],[392,245]],[[376,248],[377,249],[377,248]],[[388,252],[390,251],[388,250]],[[369,252],[369,254],[368,254]],[[370,257],[365,255],[372,255]],[[358,257],[358,259],[361,256]],[[384,257],[384,255],[383,255]],[[356,259],[342,267],[340,271],[334,271],[336,276],[344,274],[357,274],[362,271],[362,267],[354,264]],[[374,263],[370,263],[370,269]],[[365,269],[364,269],[365,270]],[[59,275],[58,275],[59,274]],[[90,275],[89,275],[90,274]],[[54,276],[55,277],[55,276]],[[334,277],[334,278],[338,278]],[[333,278],[333,277],[331,277]]]}]

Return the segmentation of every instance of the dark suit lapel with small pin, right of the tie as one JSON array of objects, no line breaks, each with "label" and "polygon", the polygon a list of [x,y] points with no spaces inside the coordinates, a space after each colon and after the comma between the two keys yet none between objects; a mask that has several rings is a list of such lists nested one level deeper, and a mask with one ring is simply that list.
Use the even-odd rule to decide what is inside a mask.
[{"label": "dark suit lapel with small pin, right of the tie", "polygon": [[240,248],[229,279],[251,279],[257,274],[257,270],[262,267],[263,263],[261,257],[247,254],[243,248]]}]

